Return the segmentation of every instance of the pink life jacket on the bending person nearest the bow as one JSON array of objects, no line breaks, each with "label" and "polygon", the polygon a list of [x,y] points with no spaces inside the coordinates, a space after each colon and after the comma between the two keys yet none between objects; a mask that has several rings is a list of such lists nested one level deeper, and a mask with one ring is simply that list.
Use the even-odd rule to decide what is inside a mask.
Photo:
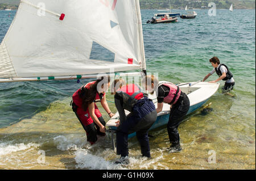
[{"label": "pink life jacket on the bending person nearest the bow", "polygon": [[171,82],[160,82],[158,84],[158,87],[160,87],[162,85],[169,87],[169,89],[170,89],[169,94],[164,97],[164,103],[167,103],[170,105],[175,104],[181,94],[180,88]]}]

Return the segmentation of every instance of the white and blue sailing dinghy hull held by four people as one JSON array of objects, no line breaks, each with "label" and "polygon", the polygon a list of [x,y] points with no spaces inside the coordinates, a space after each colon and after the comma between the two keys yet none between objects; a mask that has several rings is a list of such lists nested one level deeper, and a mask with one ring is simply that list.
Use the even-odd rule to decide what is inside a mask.
[{"label": "white and blue sailing dinghy hull held by four people", "polygon": [[[195,112],[199,109],[203,104],[207,102],[207,100],[215,94],[220,86],[220,83],[208,83],[208,82],[187,82],[181,83],[178,85],[180,90],[183,91],[185,94],[188,95],[190,101],[190,107],[188,110],[187,115],[192,112]],[[153,100],[155,107],[157,107],[157,100],[156,95],[148,95],[150,99]],[[129,114],[129,111],[125,111],[126,115]],[[155,123],[152,125],[151,129],[155,129],[161,127],[162,125],[166,125],[168,123],[170,116],[170,105],[164,104],[163,111],[158,113],[158,118],[156,119]],[[106,126],[110,128],[110,130],[115,130],[117,127],[116,121],[119,119],[118,112],[106,123]],[[136,133],[129,134],[129,138],[135,136]]]}]

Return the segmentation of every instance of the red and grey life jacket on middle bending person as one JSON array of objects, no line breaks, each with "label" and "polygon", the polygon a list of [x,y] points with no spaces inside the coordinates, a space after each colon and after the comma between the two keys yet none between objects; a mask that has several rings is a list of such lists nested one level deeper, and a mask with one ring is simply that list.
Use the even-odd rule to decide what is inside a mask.
[{"label": "red and grey life jacket on middle bending person", "polygon": [[130,112],[133,111],[133,107],[138,100],[143,99],[144,96],[148,96],[148,94],[142,92],[141,87],[133,83],[122,86],[117,90],[115,95],[122,98],[123,108]]}]

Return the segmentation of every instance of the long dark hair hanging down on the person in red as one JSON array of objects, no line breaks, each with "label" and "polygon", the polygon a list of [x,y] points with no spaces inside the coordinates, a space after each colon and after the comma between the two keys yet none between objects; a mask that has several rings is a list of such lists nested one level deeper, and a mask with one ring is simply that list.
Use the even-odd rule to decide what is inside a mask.
[{"label": "long dark hair hanging down on the person in red", "polygon": [[[103,80],[104,80],[104,77],[97,79],[97,81],[94,82],[92,85],[90,85],[88,89],[86,89],[85,86],[82,86],[79,96],[82,99],[82,108],[84,109],[84,111],[86,111],[89,104],[95,100],[96,95],[98,93],[97,85],[99,82]],[[108,83],[109,82],[110,82],[110,78],[108,77]]]}]

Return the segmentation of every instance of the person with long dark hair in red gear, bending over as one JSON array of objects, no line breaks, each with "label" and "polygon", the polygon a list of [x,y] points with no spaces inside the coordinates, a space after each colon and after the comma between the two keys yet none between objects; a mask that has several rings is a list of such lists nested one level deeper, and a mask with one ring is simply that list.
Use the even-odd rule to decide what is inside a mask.
[{"label": "person with long dark hair in red gear, bending over", "polygon": [[80,87],[73,96],[72,109],[84,128],[87,141],[93,145],[97,141],[97,135],[105,136],[105,121],[96,102],[108,113],[109,117],[114,116],[106,102],[106,90],[110,83],[109,77],[101,77],[97,81],[89,82]]}]

